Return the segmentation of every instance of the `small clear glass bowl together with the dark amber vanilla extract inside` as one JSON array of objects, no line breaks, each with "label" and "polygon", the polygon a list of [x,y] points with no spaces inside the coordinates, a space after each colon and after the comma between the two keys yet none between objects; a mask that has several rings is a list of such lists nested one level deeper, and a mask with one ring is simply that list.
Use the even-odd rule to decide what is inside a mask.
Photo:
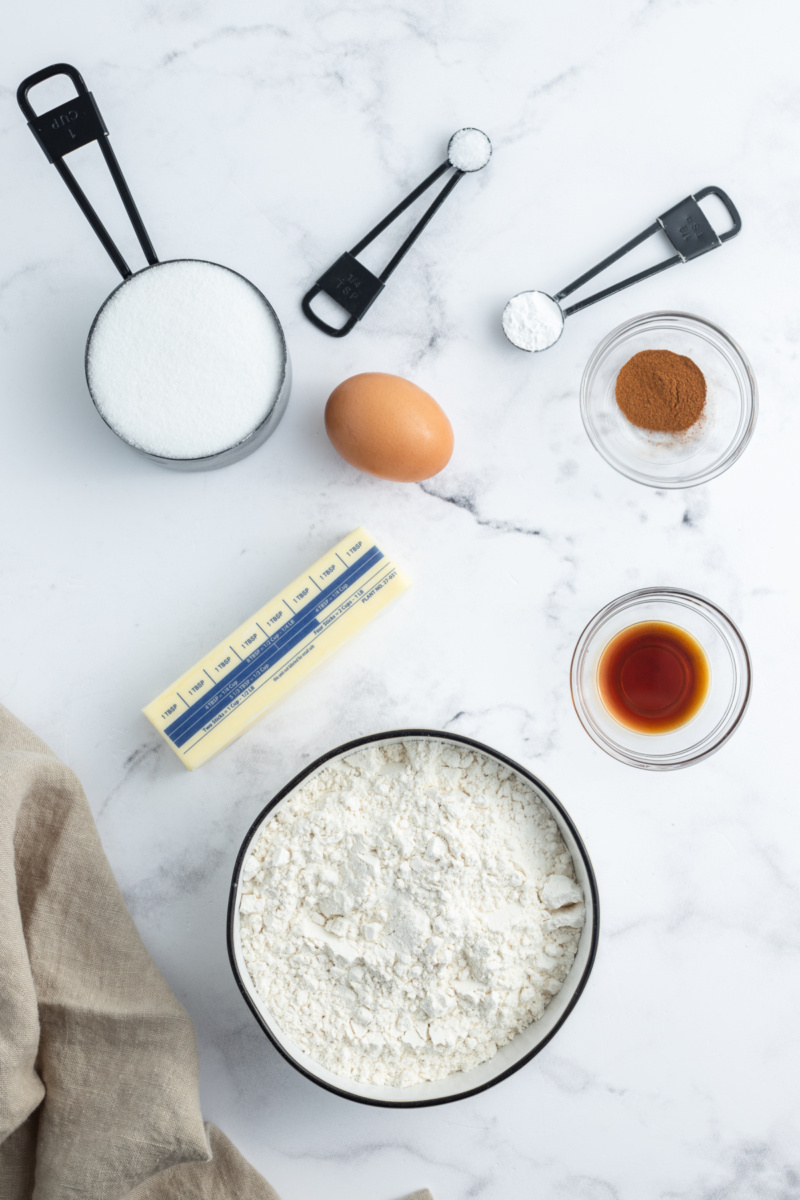
[{"label": "small clear glass bowl together with the dark amber vanilla extract inside", "polygon": [[581,724],[606,754],[674,770],[708,758],[739,727],[752,670],[744,637],[710,600],[642,588],[593,617],[570,682]]}]

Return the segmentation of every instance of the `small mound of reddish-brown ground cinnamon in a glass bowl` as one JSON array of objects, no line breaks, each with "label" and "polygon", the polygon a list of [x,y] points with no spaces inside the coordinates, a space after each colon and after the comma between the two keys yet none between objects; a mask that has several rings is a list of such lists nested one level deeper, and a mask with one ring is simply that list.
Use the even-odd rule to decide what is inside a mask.
[{"label": "small mound of reddish-brown ground cinnamon in a glass bowl", "polygon": [[705,377],[697,362],[673,350],[639,350],[616,376],[616,403],[632,425],[682,433],[705,409]]}]

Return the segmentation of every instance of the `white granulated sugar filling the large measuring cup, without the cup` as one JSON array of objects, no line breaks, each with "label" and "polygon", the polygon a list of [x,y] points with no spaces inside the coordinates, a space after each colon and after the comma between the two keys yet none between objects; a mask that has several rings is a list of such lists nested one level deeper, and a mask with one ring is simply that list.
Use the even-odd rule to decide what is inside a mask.
[{"label": "white granulated sugar filling the large measuring cup, without the cup", "polygon": [[86,353],[101,415],[164,458],[201,458],[247,438],[275,404],[285,366],[281,326],[260,292],[192,259],[126,280],[97,314]]}]

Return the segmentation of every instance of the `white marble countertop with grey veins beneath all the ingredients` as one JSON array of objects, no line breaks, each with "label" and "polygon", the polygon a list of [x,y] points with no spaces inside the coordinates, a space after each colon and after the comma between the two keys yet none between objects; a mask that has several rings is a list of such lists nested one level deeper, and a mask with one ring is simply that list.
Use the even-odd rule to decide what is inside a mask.
[{"label": "white marble countertop with grey veins beneath all the ingredients", "polygon": [[[435,1200],[800,1195],[796,32],[786,0],[42,0],[6,13],[2,698],[84,782],[142,935],[197,1024],[204,1111],[285,1200],[397,1200],[423,1184]],[[284,324],[289,408],[234,467],[164,470],[91,407],[84,342],[114,268],[13,96],[58,60],[94,90],[161,256],[240,270]],[[489,168],[357,330],[324,337],[301,294],[463,125],[493,138]],[[77,166],[109,194],[91,151]],[[740,206],[739,239],[572,318],[547,354],[505,342],[510,295],[554,290],[706,184]],[[121,216],[114,228],[134,257]],[[616,475],[577,403],[599,340],[669,307],[730,331],[763,403],[742,460],[685,492]],[[429,484],[360,475],[330,448],[325,398],[366,370],[413,378],[450,414],[456,452]],[[413,592],[184,772],[142,704],[361,522]],[[585,622],[655,583],[727,610],[756,678],[728,745],[661,775],[603,755],[569,692]],[[533,1063],[456,1105],[383,1111],[272,1050],[234,985],[224,913],[265,799],[341,742],[411,725],[497,746],[553,788],[593,857],[602,931],[584,996]]]}]

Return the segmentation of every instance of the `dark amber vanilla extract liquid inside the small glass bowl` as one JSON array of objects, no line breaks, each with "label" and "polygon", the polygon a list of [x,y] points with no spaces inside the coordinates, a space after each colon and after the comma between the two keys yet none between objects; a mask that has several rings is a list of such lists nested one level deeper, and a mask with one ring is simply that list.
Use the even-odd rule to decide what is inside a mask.
[{"label": "dark amber vanilla extract liquid inside the small glass bowl", "polygon": [[597,689],[614,720],[637,733],[669,733],[703,707],[711,671],[700,643],[679,625],[642,620],[612,637]]}]

